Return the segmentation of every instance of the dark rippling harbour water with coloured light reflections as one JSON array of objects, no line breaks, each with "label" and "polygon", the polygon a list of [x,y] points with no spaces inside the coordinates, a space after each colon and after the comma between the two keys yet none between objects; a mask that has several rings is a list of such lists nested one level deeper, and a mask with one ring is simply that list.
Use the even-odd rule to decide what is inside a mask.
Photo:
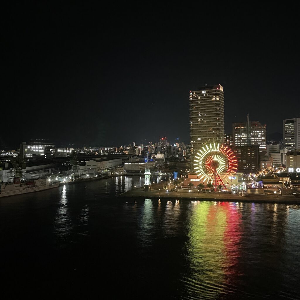
[{"label": "dark rippling harbour water with coloured light reflections", "polygon": [[299,205],[116,197],[142,184],[119,177],[0,199],[2,289],[300,298]]}]

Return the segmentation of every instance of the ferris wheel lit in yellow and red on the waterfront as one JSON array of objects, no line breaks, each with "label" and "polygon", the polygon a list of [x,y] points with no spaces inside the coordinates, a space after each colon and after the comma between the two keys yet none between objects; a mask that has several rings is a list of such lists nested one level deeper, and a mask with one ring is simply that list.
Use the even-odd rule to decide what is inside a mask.
[{"label": "ferris wheel lit in yellow and red on the waterfront", "polygon": [[[194,169],[200,180],[214,185],[216,190],[223,180],[232,176],[237,170],[237,159],[232,150],[220,143],[205,143],[199,149],[194,160]],[[205,186],[205,187],[206,187]]]}]

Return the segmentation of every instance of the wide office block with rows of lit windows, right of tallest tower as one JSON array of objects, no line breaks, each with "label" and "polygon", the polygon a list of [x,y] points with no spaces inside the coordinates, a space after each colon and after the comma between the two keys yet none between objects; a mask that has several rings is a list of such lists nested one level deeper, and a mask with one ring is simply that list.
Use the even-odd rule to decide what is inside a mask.
[{"label": "wide office block with rows of lit windows, right of tallest tower", "polygon": [[266,125],[258,121],[232,123],[232,145],[258,146],[259,152],[266,151]]}]

